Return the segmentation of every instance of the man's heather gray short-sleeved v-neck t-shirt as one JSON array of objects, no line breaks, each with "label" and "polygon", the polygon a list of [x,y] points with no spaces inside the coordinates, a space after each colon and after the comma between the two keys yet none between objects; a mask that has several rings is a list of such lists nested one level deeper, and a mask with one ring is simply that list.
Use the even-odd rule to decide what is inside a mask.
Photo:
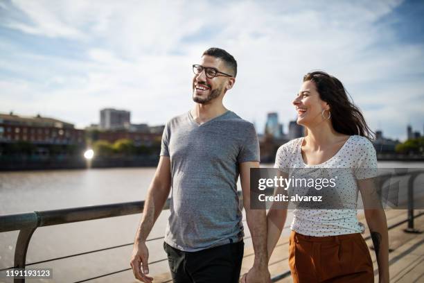
[{"label": "man's heather gray short-sleeved v-neck t-shirt", "polygon": [[172,176],[166,243],[195,252],[241,241],[237,180],[241,162],[259,161],[253,124],[227,111],[199,125],[188,112],[166,123],[161,155]]}]

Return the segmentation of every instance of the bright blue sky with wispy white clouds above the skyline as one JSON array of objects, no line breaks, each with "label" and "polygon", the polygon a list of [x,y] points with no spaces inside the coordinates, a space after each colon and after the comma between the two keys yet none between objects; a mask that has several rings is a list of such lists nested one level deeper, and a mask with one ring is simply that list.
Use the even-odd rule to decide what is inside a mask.
[{"label": "bright blue sky with wispy white clouds above the skyline", "polygon": [[191,65],[238,62],[224,105],[287,132],[303,75],[344,83],[373,130],[424,126],[424,1],[0,0],[0,112],[84,128],[100,109],[164,124],[193,107]]}]

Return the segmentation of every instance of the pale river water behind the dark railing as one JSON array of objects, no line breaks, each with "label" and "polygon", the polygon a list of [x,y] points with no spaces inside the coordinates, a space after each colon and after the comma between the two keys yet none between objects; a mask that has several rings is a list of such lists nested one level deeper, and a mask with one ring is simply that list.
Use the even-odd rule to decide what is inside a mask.
[{"label": "pale river water behind the dark railing", "polygon": [[[424,162],[379,162],[387,168],[424,168]],[[67,207],[104,205],[143,200],[154,168],[119,168],[0,173],[0,215]],[[238,185],[240,189],[240,184]],[[169,212],[165,210],[154,225],[150,238],[161,237]],[[141,214],[105,218],[38,228],[30,241],[26,262],[32,263],[67,255],[132,243]],[[290,223],[290,216],[288,222]],[[247,225],[246,234],[249,235]],[[0,269],[13,266],[18,232],[0,233]],[[150,261],[163,259],[163,241],[148,243]],[[249,245],[249,240],[246,241]],[[53,268],[53,280],[30,282],[76,282],[129,268],[132,246],[80,255],[34,268]],[[167,261],[150,266],[150,273],[163,273]],[[1,279],[0,282],[12,282]],[[136,282],[131,271],[90,282]]]}]

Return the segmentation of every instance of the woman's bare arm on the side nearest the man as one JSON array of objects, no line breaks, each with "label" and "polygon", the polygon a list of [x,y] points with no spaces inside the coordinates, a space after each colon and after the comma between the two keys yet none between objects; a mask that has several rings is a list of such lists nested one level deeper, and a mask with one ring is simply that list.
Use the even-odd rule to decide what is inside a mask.
[{"label": "woman's bare arm on the side nearest the man", "polygon": [[[283,178],[288,178],[287,173],[279,173],[279,176]],[[274,192],[274,196],[277,194],[287,195],[287,190],[282,187],[277,187]],[[272,252],[276,246],[276,243],[279,241],[281,232],[283,231],[285,219],[287,218],[287,207],[288,203],[280,205],[278,203],[272,203],[270,210],[267,213],[267,251],[268,251],[268,261],[271,258]]]}]

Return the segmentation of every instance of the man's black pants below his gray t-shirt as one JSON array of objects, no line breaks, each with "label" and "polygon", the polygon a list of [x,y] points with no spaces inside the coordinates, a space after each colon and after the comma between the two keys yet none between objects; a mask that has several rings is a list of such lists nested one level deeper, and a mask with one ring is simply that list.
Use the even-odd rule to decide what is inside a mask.
[{"label": "man's black pants below his gray t-shirt", "polygon": [[174,283],[238,283],[245,244],[183,252],[164,243]]}]

